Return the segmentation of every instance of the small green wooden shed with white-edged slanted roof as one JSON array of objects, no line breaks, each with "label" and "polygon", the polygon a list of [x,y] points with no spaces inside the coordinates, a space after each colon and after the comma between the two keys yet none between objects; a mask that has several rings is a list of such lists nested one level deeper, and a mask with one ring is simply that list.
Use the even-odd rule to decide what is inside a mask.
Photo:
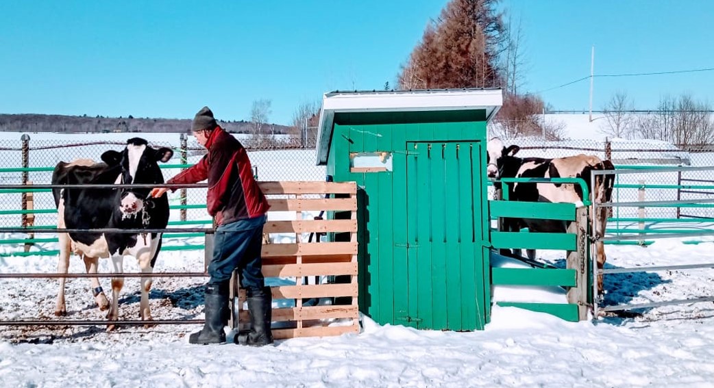
[{"label": "small green wooden shed with white-edged slanted roof", "polygon": [[325,94],[317,163],[358,185],[358,305],[379,324],[490,320],[486,124],[502,102],[501,89]]}]

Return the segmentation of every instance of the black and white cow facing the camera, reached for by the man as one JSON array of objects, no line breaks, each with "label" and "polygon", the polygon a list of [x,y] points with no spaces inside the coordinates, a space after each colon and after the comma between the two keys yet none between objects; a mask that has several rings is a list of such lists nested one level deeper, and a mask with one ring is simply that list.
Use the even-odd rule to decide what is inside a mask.
[{"label": "black and white cow facing the camera, reached for by the man", "polygon": [[[158,162],[174,155],[170,148],[151,148],[142,138],[131,138],[121,152],[108,150],[101,155],[104,163],[93,160],[59,162],[52,174],[53,185],[156,184],[164,183]],[[166,195],[147,198],[151,188],[54,188],[57,228],[67,229],[161,229],[169,223]],[[161,249],[161,233],[59,233],[59,273],[67,273],[70,252],[84,259],[88,273],[96,273],[99,257],[111,257],[114,272],[121,273],[124,255],[136,257],[141,272],[151,273]],[[55,315],[66,315],[64,282],[61,278]],[[100,310],[109,301],[96,277],[91,278],[94,298]],[[119,317],[118,300],[124,279],[111,280],[111,308],[107,317]],[[151,320],[149,290],[151,277],[141,277],[140,317]],[[108,330],[114,329],[109,325]]]}]

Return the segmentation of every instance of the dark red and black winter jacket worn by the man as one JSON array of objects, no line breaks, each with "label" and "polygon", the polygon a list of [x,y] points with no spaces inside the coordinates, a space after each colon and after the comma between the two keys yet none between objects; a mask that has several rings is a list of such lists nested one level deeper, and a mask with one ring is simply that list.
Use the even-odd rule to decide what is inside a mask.
[{"label": "dark red and black winter jacket worn by the man", "polygon": [[208,179],[206,207],[218,225],[268,212],[268,200],[253,178],[246,148],[217,126],[206,142],[208,154],[166,183],[191,184]]}]

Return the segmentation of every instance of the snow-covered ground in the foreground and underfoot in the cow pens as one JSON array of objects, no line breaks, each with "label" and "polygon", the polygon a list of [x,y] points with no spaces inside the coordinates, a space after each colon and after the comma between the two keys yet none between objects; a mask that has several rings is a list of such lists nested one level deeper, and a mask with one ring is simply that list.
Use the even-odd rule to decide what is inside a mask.
[{"label": "snow-covered ground in the foreground and underfoot in the cow pens", "polygon": [[[278,155],[264,158],[261,165],[282,160]],[[287,168],[279,170],[275,174]],[[273,174],[267,168],[264,173]],[[260,178],[283,179],[276,177]],[[11,237],[15,236],[0,238]],[[201,239],[182,243],[200,244]],[[608,267],[638,267],[713,262],[713,248],[714,242],[695,245],[675,239],[649,247],[607,245],[605,249]],[[21,247],[2,249],[11,252]],[[51,243],[44,249],[52,249]],[[564,252],[538,254],[563,266]],[[518,265],[501,257],[493,261]],[[100,272],[109,272],[109,260],[100,263]],[[203,252],[197,250],[161,252],[156,264],[156,272],[202,268]],[[136,272],[136,260],[128,257],[124,269]],[[69,271],[84,272],[76,256]],[[0,257],[0,272],[56,272],[56,257]],[[154,279],[150,299],[154,319],[202,319],[204,281]],[[58,283],[0,280],[0,320],[54,319]],[[103,285],[108,290],[109,280],[104,279]],[[66,319],[104,319],[104,313],[94,307],[88,279],[68,280],[66,288]],[[606,275],[605,289],[605,305],[712,296],[714,270]],[[563,290],[522,287],[497,287],[493,299],[565,302]],[[119,319],[135,320],[138,310],[139,280],[130,278],[120,295]],[[491,323],[483,332],[417,331],[376,325],[368,317],[362,317],[361,325],[355,335],[288,339],[263,348],[188,344],[188,333],[199,325],[121,326],[115,332],[105,332],[101,326],[0,326],[0,386],[712,387],[714,381],[712,302],[578,323],[515,307],[493,307]],[[228,332],[229,339],[232,334]]]}]

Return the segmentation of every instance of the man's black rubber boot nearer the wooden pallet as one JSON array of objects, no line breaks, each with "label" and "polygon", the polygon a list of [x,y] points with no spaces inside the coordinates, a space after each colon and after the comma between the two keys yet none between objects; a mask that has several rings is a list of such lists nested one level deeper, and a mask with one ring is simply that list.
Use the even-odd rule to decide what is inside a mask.
[{"label": "man's black rubber boot nearer the wooden pallet", "polygon": [[233,342],[248,346],[272,344],[273,295],[270,287],[263,288],[263,295],[248,297],[246,300],[248,310],[251,312],[251,330],[239,332]]}]

